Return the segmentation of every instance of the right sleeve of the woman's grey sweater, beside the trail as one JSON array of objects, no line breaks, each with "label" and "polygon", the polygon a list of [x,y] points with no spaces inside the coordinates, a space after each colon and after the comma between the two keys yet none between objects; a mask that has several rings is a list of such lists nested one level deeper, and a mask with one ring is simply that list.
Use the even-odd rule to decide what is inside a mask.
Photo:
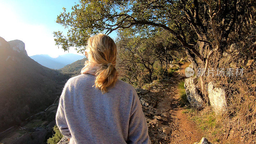
[{"label": "right sleeve of the woman's grey sweater, beside the trail", "polygon": [[148,136],[148,124],[135,89],[133,90],[133,102],[128,131],[128,143],[151,143]]}]

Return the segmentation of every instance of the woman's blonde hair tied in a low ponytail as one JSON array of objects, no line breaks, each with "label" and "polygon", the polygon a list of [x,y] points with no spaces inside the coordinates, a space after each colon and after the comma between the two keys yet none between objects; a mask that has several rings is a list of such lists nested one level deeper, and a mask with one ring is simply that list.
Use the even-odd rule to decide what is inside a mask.
[{"label": "woman's blonde hair tied in a low ponytail", "polygon": [[116,44],[108,35],[99,33],[88,39],[87,49],[89,63],[99,66],[94,86],[106,93],[117,81]]}]

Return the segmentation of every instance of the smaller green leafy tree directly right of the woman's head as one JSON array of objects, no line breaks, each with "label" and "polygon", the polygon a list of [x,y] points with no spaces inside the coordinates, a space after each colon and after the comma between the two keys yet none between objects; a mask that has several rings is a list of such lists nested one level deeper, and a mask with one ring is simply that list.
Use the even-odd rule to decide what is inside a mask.
[{"label": "smaller green leafy tree directly right of the woman's head", "polygon": [[[119,68],[121,76],[138,81],[141,73],[148,72],[147,82],[152,82],[154,64],[158,58],[155,55],[155,48],[150,46],[149,40],[141,36],[134,36],[133,33],[127,34],[125,31],[119,32],[117,47],[119,53]],[[147,75],[147,74],[146,74]]]}]

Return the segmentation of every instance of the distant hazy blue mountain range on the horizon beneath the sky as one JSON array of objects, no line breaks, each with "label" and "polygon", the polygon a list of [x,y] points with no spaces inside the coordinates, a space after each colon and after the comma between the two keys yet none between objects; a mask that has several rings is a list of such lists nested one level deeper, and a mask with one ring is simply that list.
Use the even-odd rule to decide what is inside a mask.
[{"label": "distant hazy blue mountain range on the horizon beneath the sky", "polygon": [[68,64],[71,64],[72,62],[75,62],[76,60],[83,59],[84,56],[68,53],[68,54],[60,55],[57,58],[52,58],[47,54],[40,54],[40,55],[30,56],[30,58],[47,68],[60,69]]}]

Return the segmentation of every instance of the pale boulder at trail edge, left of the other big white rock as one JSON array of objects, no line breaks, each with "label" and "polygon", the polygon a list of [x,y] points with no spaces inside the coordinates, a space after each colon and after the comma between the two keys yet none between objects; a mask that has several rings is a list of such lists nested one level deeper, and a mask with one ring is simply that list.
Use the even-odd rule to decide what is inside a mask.
[{"label": "pale boulder at trail edge, left of the other big white rock", "polygon": [[201,96],[198,94],[196,89],[196,77],[189,77],[185,79],[184,88],[186,90],[186,95],[189,103],[192,107],[197,109],[202,109],[204,106],[204,100],[202,100]]}]

